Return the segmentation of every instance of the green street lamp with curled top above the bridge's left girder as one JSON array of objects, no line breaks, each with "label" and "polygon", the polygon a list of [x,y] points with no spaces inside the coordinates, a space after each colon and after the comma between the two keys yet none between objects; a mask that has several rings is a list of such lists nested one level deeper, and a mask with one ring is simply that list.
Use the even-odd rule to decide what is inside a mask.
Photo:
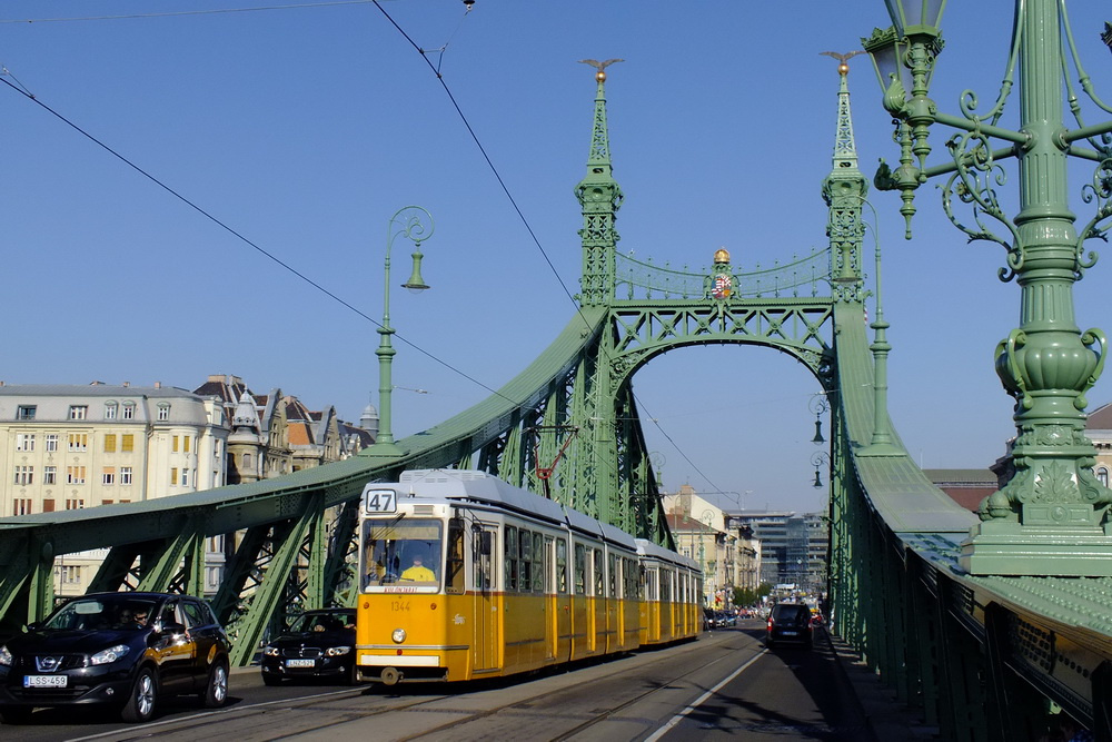
[{"label": "green street lamp with curled top above the bridge's left girder", "polygon": [[391,396],[394,393],[394,379],[390,364],[397,350],[390,345],[390,336],[394,335],[394,327],[390,326],[390,249],[394,247],[394,239],[405,236],[414,244],[413,273],[409,280],[401,285],[410,291],[419,293],[428,288],[428,284],[420,275],[420,261],[424,257],[420,251],[420,244],[433,236],[433,215],[420,206],[406,206],[394,212],[386,233],[386,264],[384,267],[385,285],[383,288],[383,324],[378,327],[378,438],[374,445],[367,449],[370,456],[400,456],[404,451],[394,443],[394,429],[391,427]]}]

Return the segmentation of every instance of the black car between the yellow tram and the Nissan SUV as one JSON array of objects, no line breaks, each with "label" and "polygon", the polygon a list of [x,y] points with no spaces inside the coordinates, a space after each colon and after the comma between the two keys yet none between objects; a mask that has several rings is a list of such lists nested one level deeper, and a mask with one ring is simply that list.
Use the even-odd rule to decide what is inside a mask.
[{"label": "black car between the yellow tram and the Nissan SUV", "polygon": [[356,680],[355,609],[306,611],[262,650],[262,682],[334,677]]}]

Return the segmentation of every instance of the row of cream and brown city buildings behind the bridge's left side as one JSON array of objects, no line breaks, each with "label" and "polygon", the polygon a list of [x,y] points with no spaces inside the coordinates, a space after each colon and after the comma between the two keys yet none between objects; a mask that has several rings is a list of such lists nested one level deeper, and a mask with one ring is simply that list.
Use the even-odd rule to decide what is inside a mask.
[{"label": "row of cream and brown city buildings behind the bridge's left side", "polygon": [[[364,418],[374,423],[374,408]],[[0,382],[0,513],[50,513],[133,503],[255,482],[346,458],[373,434],[272,389],[209,376],[193,392],[165,386],[8,385]],[[206,545],[215,593],[235,534]],[[102,552],[56,562],[59,596],[85,591]]]}]

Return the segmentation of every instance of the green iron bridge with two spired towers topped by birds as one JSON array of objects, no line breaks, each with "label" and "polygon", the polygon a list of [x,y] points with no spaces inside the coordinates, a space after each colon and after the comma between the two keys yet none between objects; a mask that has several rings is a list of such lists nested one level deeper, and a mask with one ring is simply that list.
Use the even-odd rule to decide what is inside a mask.
[{"label": "green iron bridge with two spired towers topped by birds", "polygon": [[[1044,4],[1054,3],[1029,7],[1051,12]],[[887,416],[878,258],[877,308],[871,324],[865,317],[867,181],[857,168],[841,61],[834,167],[823,188],[828,248],[749,271],[735,270],[724,250],[703,271],[619,254],[623,195],[599,69],[587,174],[576,188],[584,219],[579,306],[532,365],[470,409],[398,441],[397,455],[364,452],[192,495],[0,520],[3,622],[43,616],[53,604],[56,561],[93,548],[107,550],[107,558],[91,590],[199,594],[206,540],[235,533],[212,604],[236,637],[235,660],[247,664],[294,605],[354,600],[359,495],[366,483],[396,479],[407,468],[481,468],[673,545],[631,379],[668,350],[743,344],[796,359],[830,402],[827,588],[837,633],[878,677],[945,739],[1027,739],[1055,705],[1098,739],[1112,739],[1112,496],[1092,476],[1084,404],[1075,404],[1099,373],[1103,340],[1065,327],[1092,362],[1080,382],[1060,385],[1072,396],[1021,368],[1015,354],[1037,346],[1037,327],[1001,344],[997,367],[1016,398],[1021,434],[1012,482],[1033,482],[1030,492],[1009,484],[974,514],[931,484]],[[913,115],[894,116],[915,123]],[[913,129],[901,128],[901,170],[876,181],[900,189],[905,208],[914,190],[905,176],[920,151]],[[959,151],[951,170],[961,171],[962,158]],[[1093,229],[1083,237],[1099,236]],[[1037,269],[1039,256],[1024,257],[1020,247],[1009,255],[1017,273]],[[1080,251],[1071,256],[1080,260]],[[1024,291],[1031,284],[1021,276]],[[1063,396],[1073,413],[1053,407]]]}]

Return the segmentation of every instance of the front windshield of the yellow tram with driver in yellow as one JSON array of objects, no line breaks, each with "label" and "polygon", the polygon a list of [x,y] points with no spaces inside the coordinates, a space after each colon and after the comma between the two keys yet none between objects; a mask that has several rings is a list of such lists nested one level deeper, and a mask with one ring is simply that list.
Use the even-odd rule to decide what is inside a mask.
[{"label": "front windshield of the yellow tram with driver in yellow", "polygon": [[438,586],[444,524],[428,518],[364,521],[363,586]]}]

